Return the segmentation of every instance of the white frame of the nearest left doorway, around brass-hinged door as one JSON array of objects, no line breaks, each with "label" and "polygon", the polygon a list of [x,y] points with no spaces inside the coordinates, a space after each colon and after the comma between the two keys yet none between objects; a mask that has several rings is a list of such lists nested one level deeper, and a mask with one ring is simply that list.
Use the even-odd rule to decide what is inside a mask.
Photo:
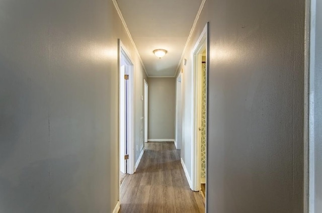
[{"label": "white frame of the nearest left doorway, around brass-hinged door", "polygon": [[[128,89],[128,95],[129,95],[129,101],[128,101],[128,109],[127,112],[127,137],[129,138],[127,140],[127,154],[129,155],[129,159],[126,162],[127,165],[127,171],[128,174],[134,173],[134,63],[133,60],[126,50],[125,46],[123,45],[122,41],[118,39],[118,71],[119,71],[119,153],[121,148],[121,141],[120,136],[121,134],[125,134],[124,129],[122,129],[121,125],[121,99],[120,94],[122,91],[124,91],[123,88],[121,88],[120,81],[124,80],[124,76],[121,76],[121,59],[124,59],[126,64],[129,67],[129,89]],[[124,124],[123,124],[124,125]],[[122,131],[123,130],[123,131]],[[120,156],[121,161],[121,156]],[[119,163],[119,170],[120,170],[120,163]]]}]

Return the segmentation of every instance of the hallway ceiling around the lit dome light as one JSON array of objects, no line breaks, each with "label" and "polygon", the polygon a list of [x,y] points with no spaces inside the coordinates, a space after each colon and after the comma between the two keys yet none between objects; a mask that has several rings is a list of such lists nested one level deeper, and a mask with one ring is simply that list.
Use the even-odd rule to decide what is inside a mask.
[{"label": "hallway ceiling around the lit dome light", "polygon": [[[149,77],[175,76],[202,0],[117,0]],[[154,49],[166,49],[161,59]]]}]

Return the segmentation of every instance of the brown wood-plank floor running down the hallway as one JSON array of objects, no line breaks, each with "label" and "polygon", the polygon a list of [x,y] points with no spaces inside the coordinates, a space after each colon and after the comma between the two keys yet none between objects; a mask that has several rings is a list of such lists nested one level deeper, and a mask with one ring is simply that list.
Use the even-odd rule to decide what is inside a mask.
[{"label": "brown wood-plank floor running down the hallway", "polygon": [[173,142],[145,143],[141,162],[121,185],[119,213],[205,212],[202,195],[189,188]]}]

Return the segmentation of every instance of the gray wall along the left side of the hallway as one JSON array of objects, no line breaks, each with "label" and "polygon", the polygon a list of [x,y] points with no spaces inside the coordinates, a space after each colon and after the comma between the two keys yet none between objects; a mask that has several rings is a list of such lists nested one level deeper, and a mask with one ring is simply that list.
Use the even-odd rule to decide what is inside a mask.
[{"label": "gray wall along the left side of the hallway", "polygon": [[112,212],[118,38],[146,77],[112,1],[5,0],[0,29],[0,212]]}]

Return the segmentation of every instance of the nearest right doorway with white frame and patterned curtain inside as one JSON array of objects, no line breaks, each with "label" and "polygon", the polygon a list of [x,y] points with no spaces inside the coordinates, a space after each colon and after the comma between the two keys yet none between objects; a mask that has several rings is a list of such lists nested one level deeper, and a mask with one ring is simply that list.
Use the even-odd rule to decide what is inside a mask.
[{"label": "nearest right doorway with white frame and patterned curtain inside", "polygon": [[207,96],[208,96],[208,23],[193,51],[193,143],[192,190],[207,198]]}]

